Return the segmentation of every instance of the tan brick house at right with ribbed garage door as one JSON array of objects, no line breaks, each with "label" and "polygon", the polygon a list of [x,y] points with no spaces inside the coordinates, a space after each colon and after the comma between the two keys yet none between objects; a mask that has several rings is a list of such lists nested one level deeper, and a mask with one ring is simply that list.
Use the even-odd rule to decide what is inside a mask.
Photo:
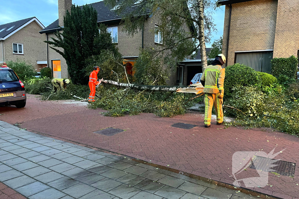
[{"label": "tan brick house at right with ribbed garage door", "polygon": [[271,59],[297,56],[299,0],[218,0],[225,5],[222,53],[227,65],[271,73]]}]

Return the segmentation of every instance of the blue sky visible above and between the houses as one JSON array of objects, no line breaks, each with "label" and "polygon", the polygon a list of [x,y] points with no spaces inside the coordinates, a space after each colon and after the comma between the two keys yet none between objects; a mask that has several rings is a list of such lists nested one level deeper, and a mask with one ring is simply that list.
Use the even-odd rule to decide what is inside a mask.
[{"label": "blue sky visible above and between the houses", "polygon": [[[76,5],[83,5],[97,1],[98,0],[73,0],[72,2]],[[0,24],[6,24],[35,16],[44,26],[48,26],[58,18],[57,2],[57,0],[0,0],[2,11]],[[217,13],[214,14],[213,18],[218,31],[213,33],[212,42],[214,39],[218,39],[223,35],[223,6],[221,9],[217,10]],[[206,44],[206,46],[210,47],[211,44]]]}]

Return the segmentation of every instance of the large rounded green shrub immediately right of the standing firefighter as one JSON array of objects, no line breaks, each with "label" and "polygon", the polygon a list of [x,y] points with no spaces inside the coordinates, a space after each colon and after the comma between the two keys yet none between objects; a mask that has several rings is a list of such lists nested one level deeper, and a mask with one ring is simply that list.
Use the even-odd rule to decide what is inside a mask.
[{"label": "large rounded green shrub immediately right of the standing firefighter", "polygon": [[236,85],[260,88],[260,75],[243,64],[228,66],[225,68],[224,94],[230,96],[232,88]]}]

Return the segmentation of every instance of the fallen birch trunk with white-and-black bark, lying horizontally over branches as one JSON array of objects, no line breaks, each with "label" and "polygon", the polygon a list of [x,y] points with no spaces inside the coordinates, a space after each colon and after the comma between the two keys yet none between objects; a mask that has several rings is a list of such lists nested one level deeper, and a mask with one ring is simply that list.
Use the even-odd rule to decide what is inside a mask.
[{"label": "fallen birch trunk with white-and-black bark, lying horizontally over branches", "polygon": [[111,80],[103,80],[102,83],[112,84],[118,87],[132,88],[141,91],[147,90],[147,91],[176,92],[176,89],[178,88],[187,88],[186,86],[180,87],[180,86],[152,86],[152,85],[141,85],[141,84],[125,84],[125,83],[119,83]]}]

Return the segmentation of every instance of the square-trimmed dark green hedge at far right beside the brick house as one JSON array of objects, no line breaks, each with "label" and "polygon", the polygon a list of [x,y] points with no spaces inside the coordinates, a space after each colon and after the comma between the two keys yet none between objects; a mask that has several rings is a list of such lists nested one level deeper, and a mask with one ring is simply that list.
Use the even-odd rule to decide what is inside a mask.
[{"label": "square-trimmed dark green hedge at far right beside the brick house", "polygon": [[272,75],[279,78],[280,75],[294,79],[296,77],[298,67],[297,58],[292,55],[289,58],[273,58],[271,60]]}]

